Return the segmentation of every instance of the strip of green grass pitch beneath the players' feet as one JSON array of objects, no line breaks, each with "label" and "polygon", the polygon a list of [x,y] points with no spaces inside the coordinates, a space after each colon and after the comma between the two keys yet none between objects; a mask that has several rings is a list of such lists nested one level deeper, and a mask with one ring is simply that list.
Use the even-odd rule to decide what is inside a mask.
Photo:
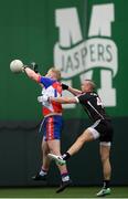
[{"label": "strip of green grass pitch beneath the players' feet", "polygon": [[[55,193],[56,187],[0,188],[0,198],[95,198],[98,187],[71,187]],[[128,198],[128,187],[113,187],[106,198]]]}]

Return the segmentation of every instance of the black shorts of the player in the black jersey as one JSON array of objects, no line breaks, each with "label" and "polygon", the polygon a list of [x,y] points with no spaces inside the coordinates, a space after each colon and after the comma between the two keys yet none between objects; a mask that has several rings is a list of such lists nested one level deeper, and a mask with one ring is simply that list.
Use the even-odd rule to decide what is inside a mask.
[{"label": "black shorts of the player in the black jersey", "polygon": [[99,133],[100,142],[113,142],[114,129],[110,119],[102,119],[96,126],[94,125],[94,129]]}]

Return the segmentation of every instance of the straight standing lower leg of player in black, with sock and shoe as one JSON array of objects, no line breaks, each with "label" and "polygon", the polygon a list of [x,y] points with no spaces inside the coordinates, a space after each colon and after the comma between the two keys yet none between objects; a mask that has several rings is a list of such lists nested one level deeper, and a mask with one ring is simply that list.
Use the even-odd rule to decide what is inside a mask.
[{"label": "straight standing lower leg of player in black, with sock and shoe", "polygon": [[109,160],[110,146],[100,144],[99,153],[103,165],[104,185],[102,190],[97,193],[97,197],[110,193],[109,181],[111,177],[111,166]]}]

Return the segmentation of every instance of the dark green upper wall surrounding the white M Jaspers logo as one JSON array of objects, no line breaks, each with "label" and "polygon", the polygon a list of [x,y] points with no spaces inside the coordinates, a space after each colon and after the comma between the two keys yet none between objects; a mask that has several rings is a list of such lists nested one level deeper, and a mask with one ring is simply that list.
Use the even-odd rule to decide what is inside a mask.
[{"label": "dark green upper wall surrounding the white M Jaspers logo", "polygon": [[[58,41],[55,27],[55,9],[77,8],[83,39],[87,38],[87,25],[92,6],[115,3],[113,40],[118,48],[118,73],[113,84],[117,90],[117,106],[107,107],[113,116],[128,115],[127,94],[127,46],[128,46],[128,2],[125,0],[0,0],[0,119],[39,119],[41,107],[36,96],[41,88],[24,74],[14,75],[9,64],[14,59],[24,63],[38,62],[42,73],[54,64],[53,49]],[[86,6],[87,3],[87,6]],[[99,70],[94,78],[99,85]],[[73,77],[74,86],[79,86],[79,77]],[[100,86],[100,85],[99,85]],[[126,93],[125,93],[126,91]],[[124,97],[125,93],[125,97]],[[84,117],[81,107],[66,109],[65,117]]]}]

